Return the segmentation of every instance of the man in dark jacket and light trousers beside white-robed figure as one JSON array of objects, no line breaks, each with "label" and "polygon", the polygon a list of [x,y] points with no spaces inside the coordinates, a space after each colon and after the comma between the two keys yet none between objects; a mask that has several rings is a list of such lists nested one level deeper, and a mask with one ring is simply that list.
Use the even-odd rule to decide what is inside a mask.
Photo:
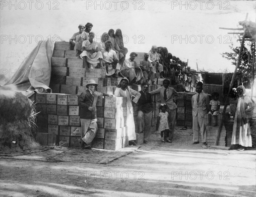
[{"label": "man in dark jacket and light trousers beside white-robed figure", "polygon": [[[148,143],[151,134],[151,119],[153,111],[153,103],[151,94],[148,93],[148,83],[144,82],[141,85],[140,99],[138,101],[138,120],[139,120],[139,133],[144,133],[144,143]],[[144,129],[143,129],[144,124]]]}]

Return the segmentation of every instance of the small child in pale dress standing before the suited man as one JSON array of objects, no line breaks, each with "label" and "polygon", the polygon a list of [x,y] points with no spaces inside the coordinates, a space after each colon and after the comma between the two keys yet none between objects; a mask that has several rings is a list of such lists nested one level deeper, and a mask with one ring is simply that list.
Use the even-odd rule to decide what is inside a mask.
[{"label": "small child in pale dress standing before the suited man", "polygon": [[157,117],[158,131],[161,131],[161,142],[164,143],[164,137],[166,137],[166,142],[172,143],[169,140],[169,114],[166,111],[166,105],[160,106],[160,113]]}]

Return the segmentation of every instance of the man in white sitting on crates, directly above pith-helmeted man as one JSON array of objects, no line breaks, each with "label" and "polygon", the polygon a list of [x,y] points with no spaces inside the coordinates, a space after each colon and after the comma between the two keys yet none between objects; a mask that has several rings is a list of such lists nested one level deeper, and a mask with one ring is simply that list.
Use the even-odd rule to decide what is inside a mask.
[{"label": "man in white sitting on crates, directly above pith-helmeted man", "polygon": [[[83,59],[83,67],[86,69],[104,69],[102,65],[102,53],[99,51],[99,44],[93,41],[94,32],[89,33],[89,40],[85,40],[82,44],[82,53],[80,57]],[[97,64],[99,63],[99,66]],[[91,65],[89,67],[89,64]]]}]

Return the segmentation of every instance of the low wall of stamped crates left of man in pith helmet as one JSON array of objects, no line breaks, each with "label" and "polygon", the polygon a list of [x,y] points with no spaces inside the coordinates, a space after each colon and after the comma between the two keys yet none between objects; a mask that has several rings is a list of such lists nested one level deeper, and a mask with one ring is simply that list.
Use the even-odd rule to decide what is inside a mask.
[{"label": "low wall of stamped crates left of man in pith helmet", "polygon": [[78,95],[37,93],[38,134],[42,145],[79,146],[81,125]]}]

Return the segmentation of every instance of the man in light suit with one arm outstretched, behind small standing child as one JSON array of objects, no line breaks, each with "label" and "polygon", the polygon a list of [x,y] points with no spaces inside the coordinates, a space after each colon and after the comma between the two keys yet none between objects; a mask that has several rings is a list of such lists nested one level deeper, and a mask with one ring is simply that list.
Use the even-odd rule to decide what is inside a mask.
[{"label": "man in light suit with one arm outstretched, behind small standing child", "polygon": [[155,95],[155,94],[160,94],[161,97],[161,105],[167,105],[168,109],[166,109],[166,111],[168,111],[169,113],[169,125],[170,125],[170,134],[169,134],[169,139],[167,138],[167,142],[172,143],[172,138],[173,138],[173,134],[174,134],[174,126],[175,126],[175,119],[176,119],[176,97],[175,95],[177,95],[177,91],[175,91],[174,88],[169,87],[170,85],[170,81],[168,79],[163,80],[163,86],[150,91],[149,94],[151,95]]}]

